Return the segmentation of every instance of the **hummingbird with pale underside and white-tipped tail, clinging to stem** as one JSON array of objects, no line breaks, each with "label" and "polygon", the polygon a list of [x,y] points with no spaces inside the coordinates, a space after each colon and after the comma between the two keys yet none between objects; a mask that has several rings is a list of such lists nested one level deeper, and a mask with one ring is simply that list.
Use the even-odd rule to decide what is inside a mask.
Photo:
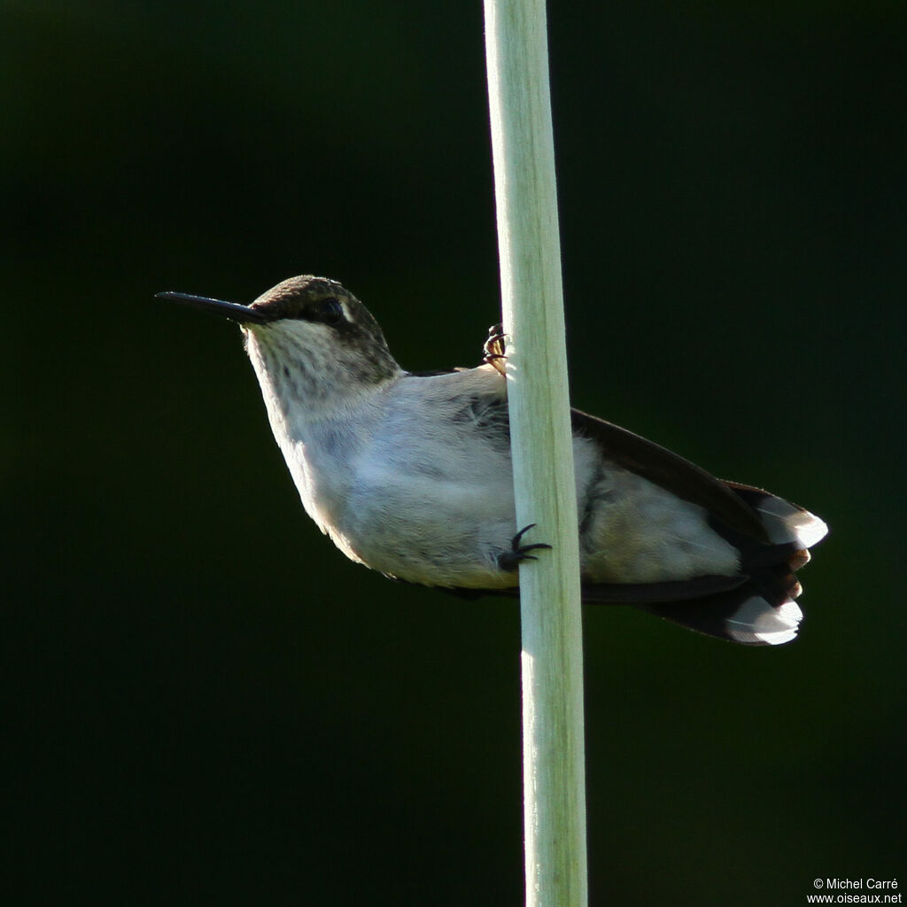
[{"label": "hummingbird with pale underside and white-tipped tail, clinging to stem", "polygon": [[[335,280],[290,278],[249,306],[159,296],[239,322],[303,506],[348,558],[470,597],[518,594],[520,562],[549,546],[516,532],[500,337],[476,368],[422,374]],[[594,416],[572,424],[584,601],[746,645],[795,638],[795,571],[822,520]]]}]

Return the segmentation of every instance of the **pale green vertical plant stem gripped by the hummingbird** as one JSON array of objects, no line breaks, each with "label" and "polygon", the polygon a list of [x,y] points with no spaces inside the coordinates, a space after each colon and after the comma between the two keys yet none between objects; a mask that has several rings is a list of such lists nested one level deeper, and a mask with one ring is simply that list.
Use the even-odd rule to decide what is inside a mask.
[{"label": "pale green vertical plant stem gripped by the hummingbird", "polygon": [[[544,0],[485,0],[520,571],[526,902],[582,907],[586,798],[579,539]],[[538,553],[538,552],[537,552]]]}]

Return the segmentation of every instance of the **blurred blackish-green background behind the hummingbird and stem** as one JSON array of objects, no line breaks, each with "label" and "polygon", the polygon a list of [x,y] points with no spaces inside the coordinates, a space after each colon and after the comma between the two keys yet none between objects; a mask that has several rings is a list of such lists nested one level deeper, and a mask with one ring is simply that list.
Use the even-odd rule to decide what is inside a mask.
[{"label": "blurred blackish-green background behind the hummingbird and stem", "polygon": [[[902,876],[907,7],[551,7],[575,404],[831,526],[793,645],[586,611],[591,902]],[[152,298],[324,274],[475,364],[481,5],[0,34],[7,902],[522,902],[517,608],[346,561],[238,331]]]}]

